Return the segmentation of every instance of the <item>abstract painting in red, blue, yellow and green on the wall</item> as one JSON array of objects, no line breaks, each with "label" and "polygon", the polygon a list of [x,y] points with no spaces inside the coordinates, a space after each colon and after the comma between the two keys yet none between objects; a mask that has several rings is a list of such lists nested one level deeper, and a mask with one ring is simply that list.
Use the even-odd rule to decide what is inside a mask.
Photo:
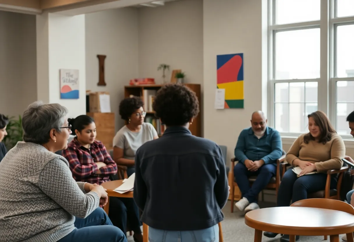
[{"label": "abstract painting in red, blue, yellow and green on the wall", "polygon": [[244,108],[243,53],[216,56],[217,88],[225,89],[225,108]]}]

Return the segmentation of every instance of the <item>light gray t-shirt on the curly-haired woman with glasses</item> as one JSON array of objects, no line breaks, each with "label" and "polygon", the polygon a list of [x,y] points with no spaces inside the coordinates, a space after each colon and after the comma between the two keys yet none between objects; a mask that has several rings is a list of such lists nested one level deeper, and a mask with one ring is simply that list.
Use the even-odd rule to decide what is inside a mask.
[{"label": "light gray t-shirt on the curly-haired woman with glasses", "polygon": [[139,132],[133,132],[125,125],[113,138],[113,146],[124,150],[124,158],[134,160],[137,149],[158,134],[151,123],[143,123]]}]

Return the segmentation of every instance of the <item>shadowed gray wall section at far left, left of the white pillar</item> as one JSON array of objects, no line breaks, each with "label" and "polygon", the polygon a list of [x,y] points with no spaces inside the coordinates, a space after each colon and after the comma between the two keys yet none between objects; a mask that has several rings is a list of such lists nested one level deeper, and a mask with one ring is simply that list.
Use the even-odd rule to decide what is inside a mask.
[{"label": "shadowed gray wall section at far left, left of the white pillar", "polygon": [[0,11],[0,113],[22,115],[36,87],[36,17]]}]

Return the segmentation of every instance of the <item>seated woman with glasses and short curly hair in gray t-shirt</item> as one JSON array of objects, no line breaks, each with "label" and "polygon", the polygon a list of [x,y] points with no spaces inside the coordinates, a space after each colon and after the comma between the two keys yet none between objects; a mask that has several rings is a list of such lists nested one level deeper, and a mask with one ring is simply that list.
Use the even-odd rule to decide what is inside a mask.
[{"label": "seated woman with glasses and short curly hair in gray t-shirt", "polygon": [[128,177],[135,172],[134,159],[137,149],[158,134],[151,123],[145,123],[146,112],[139,97],[125,98],[119,104],[119,114],[127,125],[122,127],[113,139],[113,159],[117,165],[127,167]]}]

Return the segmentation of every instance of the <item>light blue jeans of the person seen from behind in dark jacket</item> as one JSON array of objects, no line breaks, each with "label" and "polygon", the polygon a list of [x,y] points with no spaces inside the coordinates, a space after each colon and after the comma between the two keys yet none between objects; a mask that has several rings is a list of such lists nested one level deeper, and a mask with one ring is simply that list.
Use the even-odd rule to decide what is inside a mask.
[{"label": "light blue jeans of the person seen from behind in dark jacket", "polygon": [[219,242],[218,224],[201,230],[167,231],[149,227],[149,242]]}]

